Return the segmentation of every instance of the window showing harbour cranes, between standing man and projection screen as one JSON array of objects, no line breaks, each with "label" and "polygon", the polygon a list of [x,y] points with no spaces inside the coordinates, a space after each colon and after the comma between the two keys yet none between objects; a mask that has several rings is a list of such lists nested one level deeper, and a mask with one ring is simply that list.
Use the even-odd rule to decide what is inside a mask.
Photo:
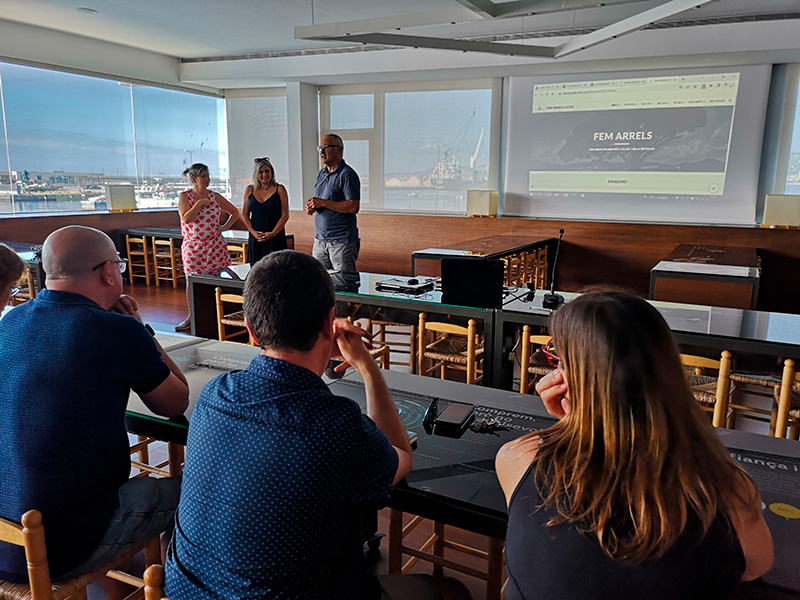
[{"label": "window showing harbour cranes, between standing man and projection screen", "polygon": [[496,188],[498,90],[490,80],[323,88],[322,129],[345,140],[362,210],[463,214],[467,190]]}]

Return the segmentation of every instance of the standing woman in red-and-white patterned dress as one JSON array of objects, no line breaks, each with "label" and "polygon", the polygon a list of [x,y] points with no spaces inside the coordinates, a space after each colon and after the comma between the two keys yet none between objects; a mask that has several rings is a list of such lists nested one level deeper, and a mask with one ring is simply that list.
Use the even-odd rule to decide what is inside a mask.
[{"label": "standing woman in red-and-white patterned dress", "polygon": [[[181,258],[183,270],[189,275],[219,275],[231,264],[228,244],[222,232],[230,229],[239,219],[239,209],[224,196],[208,189],[211,176],[208,167],[195,163],[183,172],[192,181],[192,189],[181,192],[178,212],[181,215]],[[228,219],[220,225],[220,215],[226,213]],[[189,287],[186,287],[189,299]],[[191,320],[186,318],[175,327],[175,331],[186,331]]]}]

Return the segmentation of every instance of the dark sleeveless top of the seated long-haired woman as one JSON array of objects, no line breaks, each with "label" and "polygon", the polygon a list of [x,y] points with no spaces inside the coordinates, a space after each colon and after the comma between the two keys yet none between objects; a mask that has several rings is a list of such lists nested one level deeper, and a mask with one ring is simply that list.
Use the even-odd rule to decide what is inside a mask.
[{"label": "dark sleeveless top of the seated long-haired woman", "polygon": [[660,559],[629,565],[606,556],[571,524],[546,527],[556,511],[537,510],[534,468],[514,491],[508,511],[508,600],[679,600],[729,598],[745,561],[736,532],[717,518],[705,537],[690,519],[684,534]]}]

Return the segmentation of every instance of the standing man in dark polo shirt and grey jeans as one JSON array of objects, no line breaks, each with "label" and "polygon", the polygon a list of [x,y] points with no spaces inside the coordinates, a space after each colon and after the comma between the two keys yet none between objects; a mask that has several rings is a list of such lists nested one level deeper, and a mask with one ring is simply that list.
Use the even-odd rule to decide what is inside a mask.
[{"label": "standing man in dark polo shirt and grey jeans", "polygon": [[335,133],[317,146],[323,167],[306,213],[314,215],[314,258],[328,270],[355,273],[361,240],[356,213],[361,203],[361,180],[344,162],[344,142]]}]

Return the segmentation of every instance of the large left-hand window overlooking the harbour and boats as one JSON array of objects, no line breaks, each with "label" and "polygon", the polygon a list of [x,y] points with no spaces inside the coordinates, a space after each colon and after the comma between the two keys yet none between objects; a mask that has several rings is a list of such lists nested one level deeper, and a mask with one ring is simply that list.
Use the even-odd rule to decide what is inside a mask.
[{"label": "large left-hand window overlooking the harbour and boats", "polygon": [[0,101],[0,213],[105,210],[107,184],[176,206],[193,162],[227,193],[221,99],[0,64]]}]

